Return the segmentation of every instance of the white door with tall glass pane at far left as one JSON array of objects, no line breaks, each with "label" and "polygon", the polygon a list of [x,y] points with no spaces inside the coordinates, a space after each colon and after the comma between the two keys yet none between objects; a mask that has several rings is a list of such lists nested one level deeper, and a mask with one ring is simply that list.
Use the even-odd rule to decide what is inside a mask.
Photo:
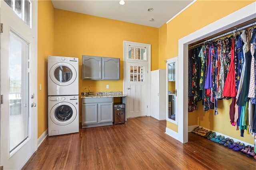
[{"label": "white door with tall glass pane at far left", "polygon": [[36,3],[0,1],[0,165],[4,169],[22,168],[37,149]]}]

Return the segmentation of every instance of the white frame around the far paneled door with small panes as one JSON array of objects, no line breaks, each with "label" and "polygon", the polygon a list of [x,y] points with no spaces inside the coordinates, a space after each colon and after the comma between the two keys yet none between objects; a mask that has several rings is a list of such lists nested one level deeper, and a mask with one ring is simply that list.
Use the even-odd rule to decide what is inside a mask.
[{"label": "white frame around the far paneled door with small panes", "polygon": [[[132,45],[132,46],[144,46],[144,47],[147,47],[148,49],[148,56],[147,56],[147,59],[148,59],[148,83],[147,83],[147,86],[148,86],[148,99],[146,100],[147,102],[147,116],[150,116],[150,72],[151,72],[151,44],[146,44],[146,43],[137,43],[137,42],[132,42],[132,41],[123,41],[123,60],[124,60],[124,80],[123,80],[123,93],[124,95],[127,95],[126,94],[126,89],[127,89],[127,77],[126,77],[126,62],[127,62],[127,59],[126,59],[126,54],[125,54],[125,49],[126,49],[126,46],[127,45]],[[146,63],[146,62],[143,62],[143,63]],[[128,102],[128,100],[126,100],[126,102]],[[126,106],[127,107],[127,106]],[[127,110],[127,109],[126,109]],[[125,119],[127,119],[127,114],[125,114]]]}]

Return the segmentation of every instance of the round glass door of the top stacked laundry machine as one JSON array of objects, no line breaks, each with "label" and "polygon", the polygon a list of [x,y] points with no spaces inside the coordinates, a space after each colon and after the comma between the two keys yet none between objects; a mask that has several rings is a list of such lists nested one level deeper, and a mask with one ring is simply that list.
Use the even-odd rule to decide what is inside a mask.
[{"label": "round glass door of the top stacked laundry machine", "polygon": [[68,86],[76,80],[76,69],[69,63],[56,63],[50,68],[51,80],[59,86]]}]

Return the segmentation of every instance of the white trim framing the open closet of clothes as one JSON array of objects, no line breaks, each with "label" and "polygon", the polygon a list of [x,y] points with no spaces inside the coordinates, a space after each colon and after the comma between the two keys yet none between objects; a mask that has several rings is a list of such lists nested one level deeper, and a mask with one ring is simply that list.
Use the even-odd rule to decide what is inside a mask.
[{"label": "white trim framing the open closet of clothes", "polygon": [[[178,41],[178,91],[179,98],[178,100],[178,108],[179,113],[179,141],[182,143],[188,142],[188,74],[183,74],[188,72],[188,44],[194,43],[198,40],[204,39],[220,31],[224,31],[226,29],[232,28],[236,25],[244,23],[246,21],[252,20],[256,18],[256,2],[221,18],[218,21],[215,21],[189,35],[179,39]],[[183,121],[181,121],[183,120]]]}]

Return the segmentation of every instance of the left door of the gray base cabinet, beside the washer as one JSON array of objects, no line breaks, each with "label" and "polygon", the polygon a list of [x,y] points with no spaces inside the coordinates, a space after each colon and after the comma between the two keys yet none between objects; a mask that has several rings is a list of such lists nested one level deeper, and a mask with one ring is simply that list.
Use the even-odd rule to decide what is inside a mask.
[{"label": "left door of the gray base cabinet, beside the washer", "polygon": [[82,125],[98,123],[98,104],[82,104]]}]

